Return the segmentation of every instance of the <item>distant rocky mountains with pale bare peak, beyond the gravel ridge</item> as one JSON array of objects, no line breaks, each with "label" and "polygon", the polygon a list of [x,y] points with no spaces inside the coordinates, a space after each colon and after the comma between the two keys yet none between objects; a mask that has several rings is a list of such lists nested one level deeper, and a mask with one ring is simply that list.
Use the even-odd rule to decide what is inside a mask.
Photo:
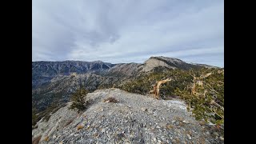
[{"label": "distant rocky mountains with pale bare peak, beyond the gravel ridge", "polygon": [[92,92],[114,85],[118,86],[152,71],[190,70],[202,67],[218,68],[162,56],[150,57],[144,63],[32,62],[32,105],[41,111],[50,106],[52,102],[68,102],[70,94],[81,85]]}]

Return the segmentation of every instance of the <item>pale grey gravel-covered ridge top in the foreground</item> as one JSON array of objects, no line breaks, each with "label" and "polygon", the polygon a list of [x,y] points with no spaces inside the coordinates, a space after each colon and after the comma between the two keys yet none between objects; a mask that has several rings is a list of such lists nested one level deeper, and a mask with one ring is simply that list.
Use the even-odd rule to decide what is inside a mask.
[{"label": "pale grey gravel-covered ridge top in the foreground", "polygon": [[[123,90],[96,90],[81,114],[67,106],[38,122],[40,143],[224,143],[224,136],[196,121],[181,100],[157,100]],[[113,97],[117,103],[103,102]],[[200,124],[199,124],[200,123]]]}]

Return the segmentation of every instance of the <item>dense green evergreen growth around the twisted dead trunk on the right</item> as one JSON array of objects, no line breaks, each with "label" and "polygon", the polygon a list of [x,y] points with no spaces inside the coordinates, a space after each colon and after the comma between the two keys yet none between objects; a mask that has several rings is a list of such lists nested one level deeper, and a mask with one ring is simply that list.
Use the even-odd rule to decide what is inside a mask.
[{"label": "dense green evergreen growth around the twisted dead trunk on the right", "polygon": [[[204,74],[210,75],[201,78],[200,82],[194,83],[194,77],[199,78]],[[188,109],[192,110],[196,119],[203,119],[215,124],[224,123],[224,74],[220,69],[202,68],[153,72],[143,74],[119,88],[131,93],[147,94],[152,90],[154,83],[166,78],[174,78],[174,81],[168,82],[160,88],[160,96],[163,99],[179,96],[189,105]]]}]

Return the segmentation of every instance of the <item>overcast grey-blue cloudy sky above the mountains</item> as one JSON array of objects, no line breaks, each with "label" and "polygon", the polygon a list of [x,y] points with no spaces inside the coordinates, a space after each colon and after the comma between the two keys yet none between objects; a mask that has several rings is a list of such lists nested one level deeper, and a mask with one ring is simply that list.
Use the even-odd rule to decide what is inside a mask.
[{"label": "overcast grey-blue cloudy sky above the mountains", "polygon": [[224,66],[223,0],[33,0],[32,61]]}]

